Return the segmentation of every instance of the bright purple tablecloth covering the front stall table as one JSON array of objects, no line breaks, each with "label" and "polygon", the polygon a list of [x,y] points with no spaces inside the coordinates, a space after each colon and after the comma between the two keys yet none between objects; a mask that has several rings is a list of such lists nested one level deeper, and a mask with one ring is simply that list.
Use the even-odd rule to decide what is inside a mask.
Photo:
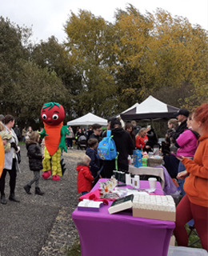
[{"label": "bright purple tablecloth covering the front stall table", "polygon": [[[149,182],[140,181],[141,189],[149,187]],[[93,190],[97,189],[98,183]],[[159,182],[155,194],[162,194]],[[102,206],[99,212],[76,209],[71,215],[78,228],[82,256],[167,255],[174,222],[135,218],[131,210],[109,214],[108,208]]]}]

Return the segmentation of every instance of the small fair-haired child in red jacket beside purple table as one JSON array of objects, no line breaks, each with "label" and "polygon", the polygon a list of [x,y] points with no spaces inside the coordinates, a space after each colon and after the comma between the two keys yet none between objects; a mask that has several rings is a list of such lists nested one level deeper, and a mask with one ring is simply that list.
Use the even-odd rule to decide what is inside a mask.
[{"label": "small fair-haired child in red jacket beside purple table", "polygon": [[94,180],[90,172],[91,158],[88,155],[82,157],[82,162],[78,163],[78,193],[87,194],[92,189],[92,181]]}]

